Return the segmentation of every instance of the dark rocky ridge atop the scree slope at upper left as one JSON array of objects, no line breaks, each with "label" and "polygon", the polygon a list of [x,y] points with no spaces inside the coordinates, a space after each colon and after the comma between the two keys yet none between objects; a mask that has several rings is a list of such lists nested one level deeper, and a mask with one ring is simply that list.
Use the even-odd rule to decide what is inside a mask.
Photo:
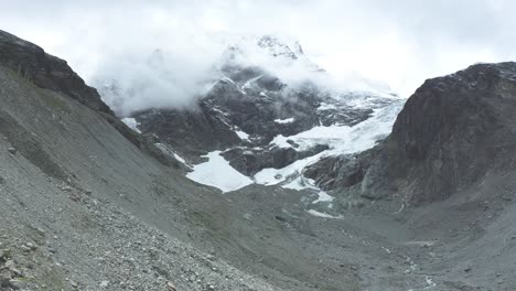
[{"label": "dark rocky ridge atop the scree slope at upper left", "polygon": [[96,111],[112,115],[97,90],[87,86],[65,61],[4,31],[0,31],[0,64],[42,88],[61,91]]}]

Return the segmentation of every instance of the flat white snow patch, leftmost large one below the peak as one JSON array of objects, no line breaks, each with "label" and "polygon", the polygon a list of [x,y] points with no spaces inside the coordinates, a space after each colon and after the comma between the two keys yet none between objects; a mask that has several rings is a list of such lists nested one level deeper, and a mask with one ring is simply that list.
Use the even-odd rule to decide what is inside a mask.
[{"label": "flat white snow patch, leftmost large one below the peak", "polygon": [[235,191],[252,184],[252,180],[241,174],[221,155],[222,151],[213,151],[204,155],[205,163],[196,164],[186,177],[197,183],[219,188],[223,193]]}]

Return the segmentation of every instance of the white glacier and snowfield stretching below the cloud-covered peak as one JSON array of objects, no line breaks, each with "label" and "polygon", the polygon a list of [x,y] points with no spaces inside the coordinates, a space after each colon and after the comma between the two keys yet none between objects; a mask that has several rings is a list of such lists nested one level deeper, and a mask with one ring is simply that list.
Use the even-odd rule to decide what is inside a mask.
[{"label": "white glacier and snowfield stretching below the cloud-covered peak", "polygon": [[[268,168],[258,172],[252,179],[236,171],[222,155],[221,151],[214,151],[206,157],[209,159],[205,163],[193,166],[193,172],[186,176],[201,184],[211,185],[223,192],[236,191],[249,184],[277,185],[282,183],[282,187],[292,190],[312,190],[319,194],[314,202],[331,202],[333,200],[327,193],[319,190],[313,181],[304,179],[302,172],[304,168],[313,164],[324,157],[351,154],[365,151],[376,146],[376,143],[390,133],[394,120],[400,110],[399,104],[375,109],[373,116],[353,127],[333,125],[330,127],[319,126],[308,131],[291,137],[278,136],[270,144],[280,148],[292,147],[288,140],[299,144],[297,150],[307,150],[316,144],[327,144],[330,149],[298,160],[282,169]],[[281,120],[289,121],[287,119]],[[248,134],[236,131],[240,139],[248,139]]]}]

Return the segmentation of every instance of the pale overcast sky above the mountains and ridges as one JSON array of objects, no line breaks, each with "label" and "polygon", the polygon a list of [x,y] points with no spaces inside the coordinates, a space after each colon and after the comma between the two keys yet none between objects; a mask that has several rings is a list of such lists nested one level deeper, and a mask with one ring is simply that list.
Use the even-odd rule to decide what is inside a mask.
[{"label": "pale overcast sky above the mountains and ridges", "polygon": [[211,35],[224,33],[298,39],[330,73],[381,80],[407,97],[426,78],[516,60],[516,1],[509,0],[0,3],[0,29],[67,60],[86,79],[106,56],[143,47],[174,47],[183,66],[202,63]]}]

